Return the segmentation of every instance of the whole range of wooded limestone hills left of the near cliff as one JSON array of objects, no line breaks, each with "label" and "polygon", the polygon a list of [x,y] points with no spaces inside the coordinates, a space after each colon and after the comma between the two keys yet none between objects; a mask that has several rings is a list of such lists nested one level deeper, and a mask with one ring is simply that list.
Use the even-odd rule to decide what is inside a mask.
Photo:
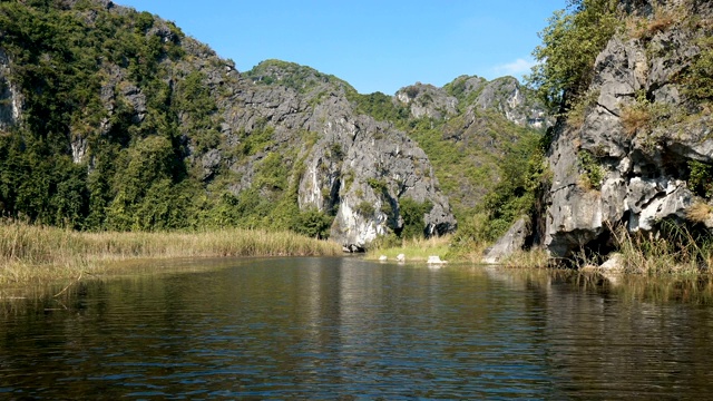
[{"label": "whole range of wooded limestone hills left of the near cliff", "polygon": [[79,229],[260,226],[363,246],[452,232],[453,211],[488,215],[484,202],[510,207],[488,215],[505,222],[522,202],[500,177],[522,164],[502,162],[546,124],[511,78],[392,97],[276,60],[241,74],[106,0],[0,2],[0,84],[2,215]]}]

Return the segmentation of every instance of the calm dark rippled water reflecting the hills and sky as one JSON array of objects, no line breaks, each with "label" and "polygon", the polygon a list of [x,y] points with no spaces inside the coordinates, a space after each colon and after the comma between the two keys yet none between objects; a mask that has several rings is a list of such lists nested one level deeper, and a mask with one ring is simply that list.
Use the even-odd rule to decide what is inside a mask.
[{"label": "calm dark rippled water reflecting the hills and sky", "polygon": [[711,299],[697,280],[223,261],[6,302],[0,398],[696,398]]}]

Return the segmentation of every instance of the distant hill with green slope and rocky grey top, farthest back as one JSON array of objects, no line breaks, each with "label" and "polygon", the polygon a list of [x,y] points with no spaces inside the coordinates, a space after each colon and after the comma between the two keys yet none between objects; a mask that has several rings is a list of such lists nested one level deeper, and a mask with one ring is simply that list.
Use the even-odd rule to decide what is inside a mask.
[{"label": "distant hill with green slope and rocky grey top, farthest back", "polygon": [[506,155],[554,123],[534,94],[512,77],[488,81],[460,76],[442,88],[416,84],[391,100],[400,126],[429,154],[462,219],[477,213],[501,179]]}]

